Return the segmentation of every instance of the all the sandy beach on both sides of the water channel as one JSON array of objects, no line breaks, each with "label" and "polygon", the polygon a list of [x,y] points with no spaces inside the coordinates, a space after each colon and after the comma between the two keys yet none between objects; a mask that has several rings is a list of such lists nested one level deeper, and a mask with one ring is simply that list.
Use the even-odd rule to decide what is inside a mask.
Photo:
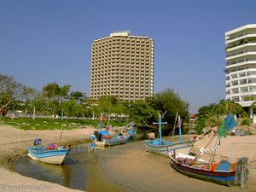
[{"label": "all the sandy beach on both sides of the water channel", "polygon": [[[93,128],[63,131],[61,143],[82,143],[93,131]],[[61,131],[22,131],[0,125],[0,132],[0,191],[80,191],[21,176],[9,169],[9,161],[20,155],[25,156],[26,147],[32,145],[34,138],[42,138],[44,144],[51,143],[59,140]],[[203,147],[209,139],[210,136],[206,136],[198,140],[195,143],[195,151]],[[250,160],[251,178],[246,189],[242,191],[256,191],[255,151],[256,136],[227,137],[221,140],[221,157],[229,160],[232,156],[232,160],[236,162],[239,157],[247,156]],[[96,175],[90,177],[94,181],[89,181],[89,191],[241,191],[239,186],[229,188],[175,172],[170,166],[169,159],[146,152],[143,141],[115,146],[96,155],[99,161],[94,168],[98,170]],[[96,184],[97,182],[99,184]]]}]

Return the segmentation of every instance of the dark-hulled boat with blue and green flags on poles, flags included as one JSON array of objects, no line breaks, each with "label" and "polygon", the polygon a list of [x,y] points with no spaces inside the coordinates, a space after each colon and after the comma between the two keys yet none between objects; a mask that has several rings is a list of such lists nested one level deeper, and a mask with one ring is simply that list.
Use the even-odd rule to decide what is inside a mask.
[{"label": "dark-hulled boat with blue and green flags on poles, flags included", "polygon": [[[232,114],[229,114],[227,119],[224,120],[224,123],[218,128],[219,138],[225,134],[225,130],[229,130],[231,126],[237,125],[233,120],[231,122],[230,119],[232,120]],[[229,121],[230,123],[228,123]],[[229,128],[226,129],[225,127]],[[217,136],[217,133],[213,135],[212,139],[215,136]],[[207,146],[212,142],[212,139],[207,143]],[[232,163],[231,160],[230,162],[227,160],[219,161],[218,146],[219,143],[216,144],[216,149],[214,150],[214,153],[218,156],[217,162],[213,161],[215,155],[211,155],[210,160],[201,159],[201,155],[206,151],[204,148],[196,156],[176,153],[176,151],[170,150],[168,154],[171,159],[171,166],[177,172],[181,172],[189,177],[226,186],[240,184],[241,188],[243,188],[249,175],[248,158],[241,157],[236,163]]]}]

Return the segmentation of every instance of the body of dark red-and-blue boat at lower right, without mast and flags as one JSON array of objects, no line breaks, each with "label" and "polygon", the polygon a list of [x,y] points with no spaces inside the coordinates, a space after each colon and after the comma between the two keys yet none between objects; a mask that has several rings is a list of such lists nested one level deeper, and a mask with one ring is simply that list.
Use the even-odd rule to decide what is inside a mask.
[{"label": "body of dark red-and-blue boat at lower right, without mast and flags", "polygon": [[[241,181],[239,182],[241,179],[247,180],[247,174],[245,174],[248,172],[247,158],[241,158],[236,163],[223,162],[211,164],[207,160],[195,160],[195,156],[188,154],[173,154],[170,151],[169,156],[172,168],[189,177],[226,186],[241,183]],[[243,172],[241,172],[242,169],[244,170]],[[240,174],[236,172],[240,172]]]}]

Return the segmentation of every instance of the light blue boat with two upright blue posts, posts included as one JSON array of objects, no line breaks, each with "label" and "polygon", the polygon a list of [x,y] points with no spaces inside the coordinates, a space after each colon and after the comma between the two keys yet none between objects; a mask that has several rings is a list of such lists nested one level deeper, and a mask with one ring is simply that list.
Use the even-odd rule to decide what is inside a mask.
[{"label": "light blue boat with two upright blue posts, posts included", "polygon": [[146,151],[159,154],[164,157],[169,157],[167,148],[169,150],[176,150],[179,153],[189,154],[191,148],[195,143],[195,139],[182,140],[181,136],[181,120],[179,120],[179,141],[177,142],[169,142],[163,141],[161,136],[161,125],[166,124],[161,121],[162,117],[159,114],[159,122],[154,123],[159,125],[159,139],[148,139],[144,141],[144,146],[146,147]]}]

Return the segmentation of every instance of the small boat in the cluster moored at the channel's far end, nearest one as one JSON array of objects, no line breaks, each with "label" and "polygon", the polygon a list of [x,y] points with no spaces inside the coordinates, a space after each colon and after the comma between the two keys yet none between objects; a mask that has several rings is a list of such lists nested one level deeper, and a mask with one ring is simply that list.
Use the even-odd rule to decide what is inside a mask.
[{"label": "small boat in the cluster moored at the channel's far end, nearest one", "polygon": [[96,146],[113,146],[128,143],[129,138],[130,136],[127,135],[116,136],[112,138],[102,138],[102,140],[98,140],[95,137],[94,142],[96,143]]}]

